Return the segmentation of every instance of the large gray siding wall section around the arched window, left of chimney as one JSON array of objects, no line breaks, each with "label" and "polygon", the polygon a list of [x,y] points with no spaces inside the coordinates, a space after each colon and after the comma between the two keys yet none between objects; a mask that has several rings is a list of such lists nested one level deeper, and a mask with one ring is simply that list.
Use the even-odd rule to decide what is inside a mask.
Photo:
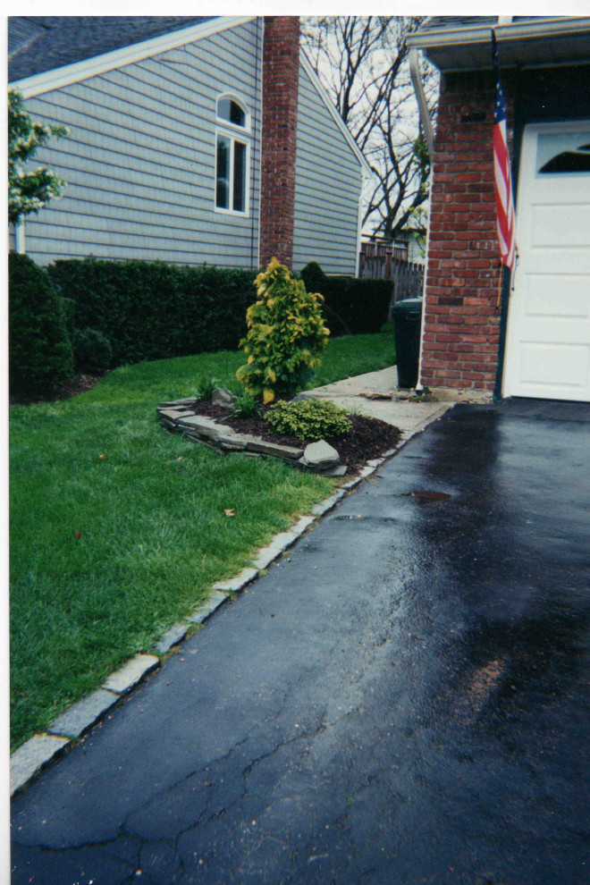
[{"label": "large gray siding wall section around the arched window, left of chimney", "polygon": [[[64,123],[35,163],[67,187],[27,217],[38,264],[95,257],[257,267],[262,21],[97,74],[26,101]],[[251,114],[249,214],[215,212],[215,99],[243,97]]]}]

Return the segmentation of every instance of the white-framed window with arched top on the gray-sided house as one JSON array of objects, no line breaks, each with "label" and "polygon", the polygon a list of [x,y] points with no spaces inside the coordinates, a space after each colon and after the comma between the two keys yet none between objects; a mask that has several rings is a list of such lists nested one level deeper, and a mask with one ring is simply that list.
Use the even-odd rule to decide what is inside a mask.
[{"label": "white-framed window with arched top on the gray-sided house", "polygon": [[216,100],[215,211],[248,215],[250,118],[238,97]]}]

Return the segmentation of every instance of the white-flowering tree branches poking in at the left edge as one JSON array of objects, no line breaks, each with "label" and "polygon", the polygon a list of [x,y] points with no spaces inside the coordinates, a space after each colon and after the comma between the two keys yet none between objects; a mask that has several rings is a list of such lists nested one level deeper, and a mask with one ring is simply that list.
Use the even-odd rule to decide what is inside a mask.
[{"label": "white-flowering tree branches poking in at the left edge", "polygon": [[65,126],[33,122],[24,106],[21,93],[8,92],[8,221],[18,223],[50,199],[62,196],[65,181],[46,166],[26,171],[25,163],[54,135],[62,139],[68,134]]}]

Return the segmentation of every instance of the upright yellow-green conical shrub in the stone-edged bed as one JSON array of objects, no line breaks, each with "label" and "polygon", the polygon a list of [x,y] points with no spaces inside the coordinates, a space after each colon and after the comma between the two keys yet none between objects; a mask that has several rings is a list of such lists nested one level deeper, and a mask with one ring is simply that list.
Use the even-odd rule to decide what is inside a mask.
[{"label": "upright yellow-green conical shrub in the stone-edged bed", "polygon": [[291,393],[306,384],[320,366],[320,353],[330,334],[319,302],[321,295],[273,258],[256,278],[257,301],[248,308],[248,334],[240,348],[248,362],[236,376],[252,396],[272,402],[277,393]]}]

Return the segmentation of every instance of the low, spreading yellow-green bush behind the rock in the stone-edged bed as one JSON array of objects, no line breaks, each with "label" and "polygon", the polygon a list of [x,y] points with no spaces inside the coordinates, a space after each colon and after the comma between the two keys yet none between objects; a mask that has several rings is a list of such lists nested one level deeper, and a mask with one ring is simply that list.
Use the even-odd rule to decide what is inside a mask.
[{"label": "low, spreading yellow-green bush behind the rock in the stone-edged bed", "polygon": [[350,415],[330,400],[309,398],[277,402],[268,409],[268,424],[277,434],[302,440],[333,439],[352,429]]}]

